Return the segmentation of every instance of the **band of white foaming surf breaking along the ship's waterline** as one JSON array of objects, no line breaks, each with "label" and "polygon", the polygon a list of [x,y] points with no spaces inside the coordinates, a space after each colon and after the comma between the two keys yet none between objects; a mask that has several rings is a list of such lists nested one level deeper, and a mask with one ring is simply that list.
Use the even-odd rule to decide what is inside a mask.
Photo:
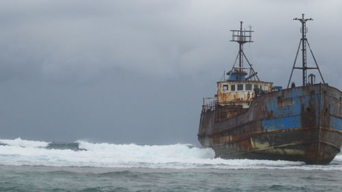
[{"label": "band of white foaming surf breaking along the ship's waterline", "polygon": [[147,167],[166,169],[322,169],[342,170],[342,155],[330,165],[302,162],[214,158],[211,149],[190,144],[140,146],[136,144],[48,143],[21,138],[0,139],[0,165],[55,167]]}]

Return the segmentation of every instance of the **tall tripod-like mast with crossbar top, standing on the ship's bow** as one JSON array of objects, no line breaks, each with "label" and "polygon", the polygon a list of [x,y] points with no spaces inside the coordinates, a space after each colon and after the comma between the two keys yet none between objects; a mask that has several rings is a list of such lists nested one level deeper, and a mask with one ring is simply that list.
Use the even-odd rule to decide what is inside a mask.
[{"label": "tall tripod-like mast with crossbar top, standing on the ship's bow", "polygon": [[[321,75],[321,71],[319,70],[315,56],[313,55],[313,51],[311,50],[310,44],[308,43],[308,39],[306,38],[306,33],[308,33],[308,28],[306,27],[306,21],[313,20],[313,18],[304,18],[304,14],[302,14],[302,18],[293,18],[293,20],[299,20],[300,23],[302,23],[302,28],[300,28],[300,32],[302,33],[302,38],[300,39],[300,43],[298,45],[297,53],[295,55],[295,61],[297,61],[300,45],[302,44],[302,67],[295,67],[295,61],[294,61],[293,67],[291,70],[289,83],[287,83],[287,88],[289,88],[289,84],[290,84],[290,81],[292,78],[293,70],[295,70],[295,69],[302,70],[303,86],[308,85],[306,70],[311,70],[311,69],[317,69],[319,72],[319,75],[321,76],[321,80],[323,81],[323,83],[325,83],[323,76]],[[308,45],[308,48],[310,49],[311,55],[313,55],[313,60],[315,61],[316,67],[307,67],[306,66],[306,44]],[[313,74],[310,74],[309,76],[314,77]],[[313,83],[313,82],[311,81],[311,83]]]}]

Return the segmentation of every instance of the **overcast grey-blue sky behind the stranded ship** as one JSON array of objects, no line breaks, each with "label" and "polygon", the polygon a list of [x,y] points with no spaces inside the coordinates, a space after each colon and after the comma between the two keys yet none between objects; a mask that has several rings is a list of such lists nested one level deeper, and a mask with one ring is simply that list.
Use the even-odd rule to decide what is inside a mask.
[{"label": "overcast grey-blue sky behind the stranded ship", "polygon": [[301,36],[292,19],[312,17],[307,38],[341,90],[341,10],[339,0],[0,1],[0,138],[198,145],[202,97],[233,65],[240,20],[255,31],[245,51],[259,78],[285,87]]}]

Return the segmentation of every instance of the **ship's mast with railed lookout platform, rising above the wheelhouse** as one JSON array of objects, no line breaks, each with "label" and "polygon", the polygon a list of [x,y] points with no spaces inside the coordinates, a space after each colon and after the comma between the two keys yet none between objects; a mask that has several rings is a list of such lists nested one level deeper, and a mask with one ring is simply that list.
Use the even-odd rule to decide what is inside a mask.
[{"label": "ship's mast with railed lookout platform, rising above the wheelhouse", "polygon": [[[228,75],[231,75],[233,72],[235,72],[235,74],[239,74],[236,75],[236,80],[237,81],[244,81],[244,80],[248,80],[251,79],[252,77],[257,77],[258,81],[259,77],[257,76],[257,72],[254,71],[254,69],[252,68],[252,64],[250,64],[250,61],[248,61],[245,53],[244,53],[244,44],[247,42],[253,42],[252,41],[252,31],[250,30],[244,30],[242,29],[242,23],[244,23],[243,21],[240,21],[240,30],[231,30],[233,33],[233,39],[231,40],[231,42],[237,42],[239,44],[239,53],[237,53],[237,57],[235,59],[233,68],[230,72],[227,72]],[[244,68],[244,58],[246,59],[248,65],[250,66],[250,68]],[[235,67],[235,64],[237,62],[237,59],[239,59],[239,67]],[[250,74],[248,77],[245,77],[245,75],[247,74],[246,72],[244,72],[244,69],[250,69]],[[236,72],[237,71],[237,72]]]}]

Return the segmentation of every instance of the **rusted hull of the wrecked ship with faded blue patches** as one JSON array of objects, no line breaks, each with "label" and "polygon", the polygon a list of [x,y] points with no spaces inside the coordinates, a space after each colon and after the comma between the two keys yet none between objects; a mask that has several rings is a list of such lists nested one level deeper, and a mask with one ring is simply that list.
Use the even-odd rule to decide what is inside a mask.
[{"label": "rusted hull of the wrecked ship with faded blue patches", "polygon": [[[256,97],[249,109],[203,107],[198,141],[224,159],[270,159],[327,164],[342,145],[342,93],[324,84]],[[224,113],[224,114],[222,114]]]}]

